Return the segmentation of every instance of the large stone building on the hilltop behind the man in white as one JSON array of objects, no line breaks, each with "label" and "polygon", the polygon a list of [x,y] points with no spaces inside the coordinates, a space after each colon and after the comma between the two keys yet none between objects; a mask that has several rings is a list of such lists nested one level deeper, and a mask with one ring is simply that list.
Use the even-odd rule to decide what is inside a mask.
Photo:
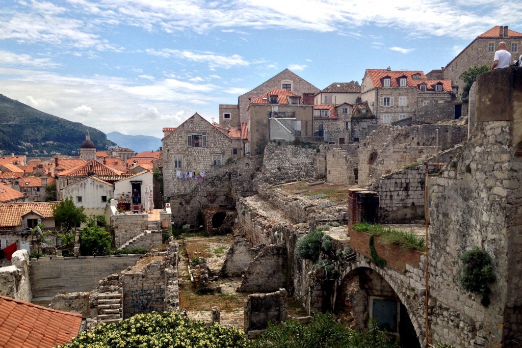
[{"label": "large stone building on the hilltop behind the man in white", "polygon": [[513,61],[518,59],[522,53],[522,33],[510,30],[507,26],[495,26],[478,35],[443,68],[443,78],[452,80],[453,85],[458,87],[457,95],[460,96],[462,94],[462,90],[466,85],[460,79],[460,75],[474,66],[481,67],[487,65],[491,67],[495,51],[498,49],[501,41],[506,43],[507,51],[511,52]]}]

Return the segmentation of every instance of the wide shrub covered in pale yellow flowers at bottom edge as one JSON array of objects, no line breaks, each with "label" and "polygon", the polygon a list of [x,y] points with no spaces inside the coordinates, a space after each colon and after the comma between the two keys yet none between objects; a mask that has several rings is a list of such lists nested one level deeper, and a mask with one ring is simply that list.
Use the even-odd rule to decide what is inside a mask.
[{"label": "wide shrub covered in pale yellow flowers at bottom edge", "polygon": [[191,321],[176,312],[152,312],[82,332],[62,348],[221,348],[247,347],[243,332],[234,327]]}]

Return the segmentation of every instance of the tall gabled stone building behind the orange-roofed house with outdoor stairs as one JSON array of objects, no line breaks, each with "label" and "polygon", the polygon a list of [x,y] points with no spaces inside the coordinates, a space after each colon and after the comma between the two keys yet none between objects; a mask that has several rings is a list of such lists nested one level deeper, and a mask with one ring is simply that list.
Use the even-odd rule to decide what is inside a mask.
[{"label": "tall gabled stone building behind the orange-roofed house with outdoor stairs", "polygon": [[[284,69],[279,74],[263,82],[253,90],[240,95],[238,98],[238,105],[220,104],[219,124],[222,127],[228,127],[228,124],[230,123],[231,127],[235,127],[238,126],[238,123],[240,122],[246,122],[247,109],[250,105],[250,101],[273,89],[284,89],[298,95],[303,95],[305,99],[311,99],[307,104],[313,104],[314,95],[320,91],[310,82],[295,75],[289,69]],[[238,114],[238,121],[235,119],[236,114]],[[224,118],[225,116],[229,117],[228,115],[230,115],[230,121],[228,118]]]}]

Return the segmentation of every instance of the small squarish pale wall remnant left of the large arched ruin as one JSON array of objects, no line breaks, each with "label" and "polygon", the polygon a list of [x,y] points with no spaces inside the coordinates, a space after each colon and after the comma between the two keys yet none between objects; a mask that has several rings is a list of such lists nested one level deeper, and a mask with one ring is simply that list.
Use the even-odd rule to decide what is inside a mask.
[{"label": "small squarish pale wall remnant left of the large arched ruin", "polygon": [[355,185],[353,169],[357,162],[352,162],[350,151],[332,149],[326,154],[326,178],[329,183]]}]

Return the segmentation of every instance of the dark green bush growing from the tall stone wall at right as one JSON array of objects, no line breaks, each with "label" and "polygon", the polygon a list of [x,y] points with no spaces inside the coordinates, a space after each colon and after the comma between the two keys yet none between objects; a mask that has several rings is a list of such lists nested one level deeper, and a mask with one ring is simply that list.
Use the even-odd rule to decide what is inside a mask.
[{"label": "dark green bush growing from the tall stone wall at right", "polygon": [[460,261],[464,263],[460,273],[460,283],[464,290],[482,295],[480,303],[484,307],[490,304],[491,292],[489,283],[495,281],[492,260],[487,251],[474,247],[460,255]]}]

